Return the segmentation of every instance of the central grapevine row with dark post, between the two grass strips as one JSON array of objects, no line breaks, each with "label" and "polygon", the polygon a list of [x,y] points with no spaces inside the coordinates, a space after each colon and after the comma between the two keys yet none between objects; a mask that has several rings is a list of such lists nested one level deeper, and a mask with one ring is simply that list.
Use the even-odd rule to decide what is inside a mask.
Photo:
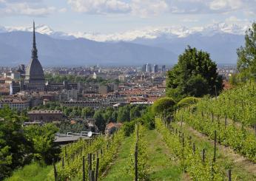
[{"label": "central grapevine row with dark post, between the two grass strips", "polygon": [[147,165],[148,151],[147,144],[144,140],[145,128],[141,125],[135,126],[135,132],[133,133],[133,145],[130,150],[130,170],[129,174],[135,180],[147,180],[149,165]]}]

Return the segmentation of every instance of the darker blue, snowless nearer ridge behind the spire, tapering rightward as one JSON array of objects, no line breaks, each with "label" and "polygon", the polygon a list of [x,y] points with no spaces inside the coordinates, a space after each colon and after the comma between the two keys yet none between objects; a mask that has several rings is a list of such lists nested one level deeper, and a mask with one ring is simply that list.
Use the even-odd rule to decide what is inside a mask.
[{"label": "darker blue, snowless nearer ridge behind the spire, tapering rightward", "polygon": [[[57,39],[36,33],[42,66],[175,64],[177,55],[160,48],[120,41],[96,42],[85,38]],[[0,64],[28,64],[32,33],[0,33]]]}]

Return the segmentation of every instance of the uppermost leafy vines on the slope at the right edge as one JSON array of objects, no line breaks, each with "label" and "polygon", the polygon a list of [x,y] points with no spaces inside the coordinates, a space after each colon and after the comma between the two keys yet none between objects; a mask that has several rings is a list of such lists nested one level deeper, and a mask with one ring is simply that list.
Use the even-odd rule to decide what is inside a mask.
[{"label": "uppermost leafy vines on the slope at the right edge", "polygon": [[256,83],[250,81],[243,86],[223,92],[217,99],[203,98],[197,105],[198,111],[218,115],[240,122],[243,126],[256,124]]}]

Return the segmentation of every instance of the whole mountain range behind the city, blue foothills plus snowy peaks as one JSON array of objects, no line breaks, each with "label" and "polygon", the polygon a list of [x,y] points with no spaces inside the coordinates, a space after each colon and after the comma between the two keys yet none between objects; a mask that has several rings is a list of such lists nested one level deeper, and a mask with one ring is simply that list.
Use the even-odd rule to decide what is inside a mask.
[{"label": "whole mountain range behind the city, blue foothills plus snowy peaks", "polygon": [[[126,33],[55,32],[38,25],[37,44],[43,66],[175,64],[187,45],[210,53],[218,64],[236,64],[248,26],[163,27]],[[0,27],[0,64],[27,64],[32,27]]]}]

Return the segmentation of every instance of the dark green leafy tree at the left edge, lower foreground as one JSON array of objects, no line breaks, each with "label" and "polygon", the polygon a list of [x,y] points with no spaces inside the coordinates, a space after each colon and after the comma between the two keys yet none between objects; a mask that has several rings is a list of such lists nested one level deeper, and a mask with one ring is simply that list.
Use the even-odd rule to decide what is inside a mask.
[{"label": "dark green leafy tree at the left edge, lower foreground", "polygon": [[31,144],[22,132],[21,117],[9,107],[0,109],[0,180],[29,163]]}]

